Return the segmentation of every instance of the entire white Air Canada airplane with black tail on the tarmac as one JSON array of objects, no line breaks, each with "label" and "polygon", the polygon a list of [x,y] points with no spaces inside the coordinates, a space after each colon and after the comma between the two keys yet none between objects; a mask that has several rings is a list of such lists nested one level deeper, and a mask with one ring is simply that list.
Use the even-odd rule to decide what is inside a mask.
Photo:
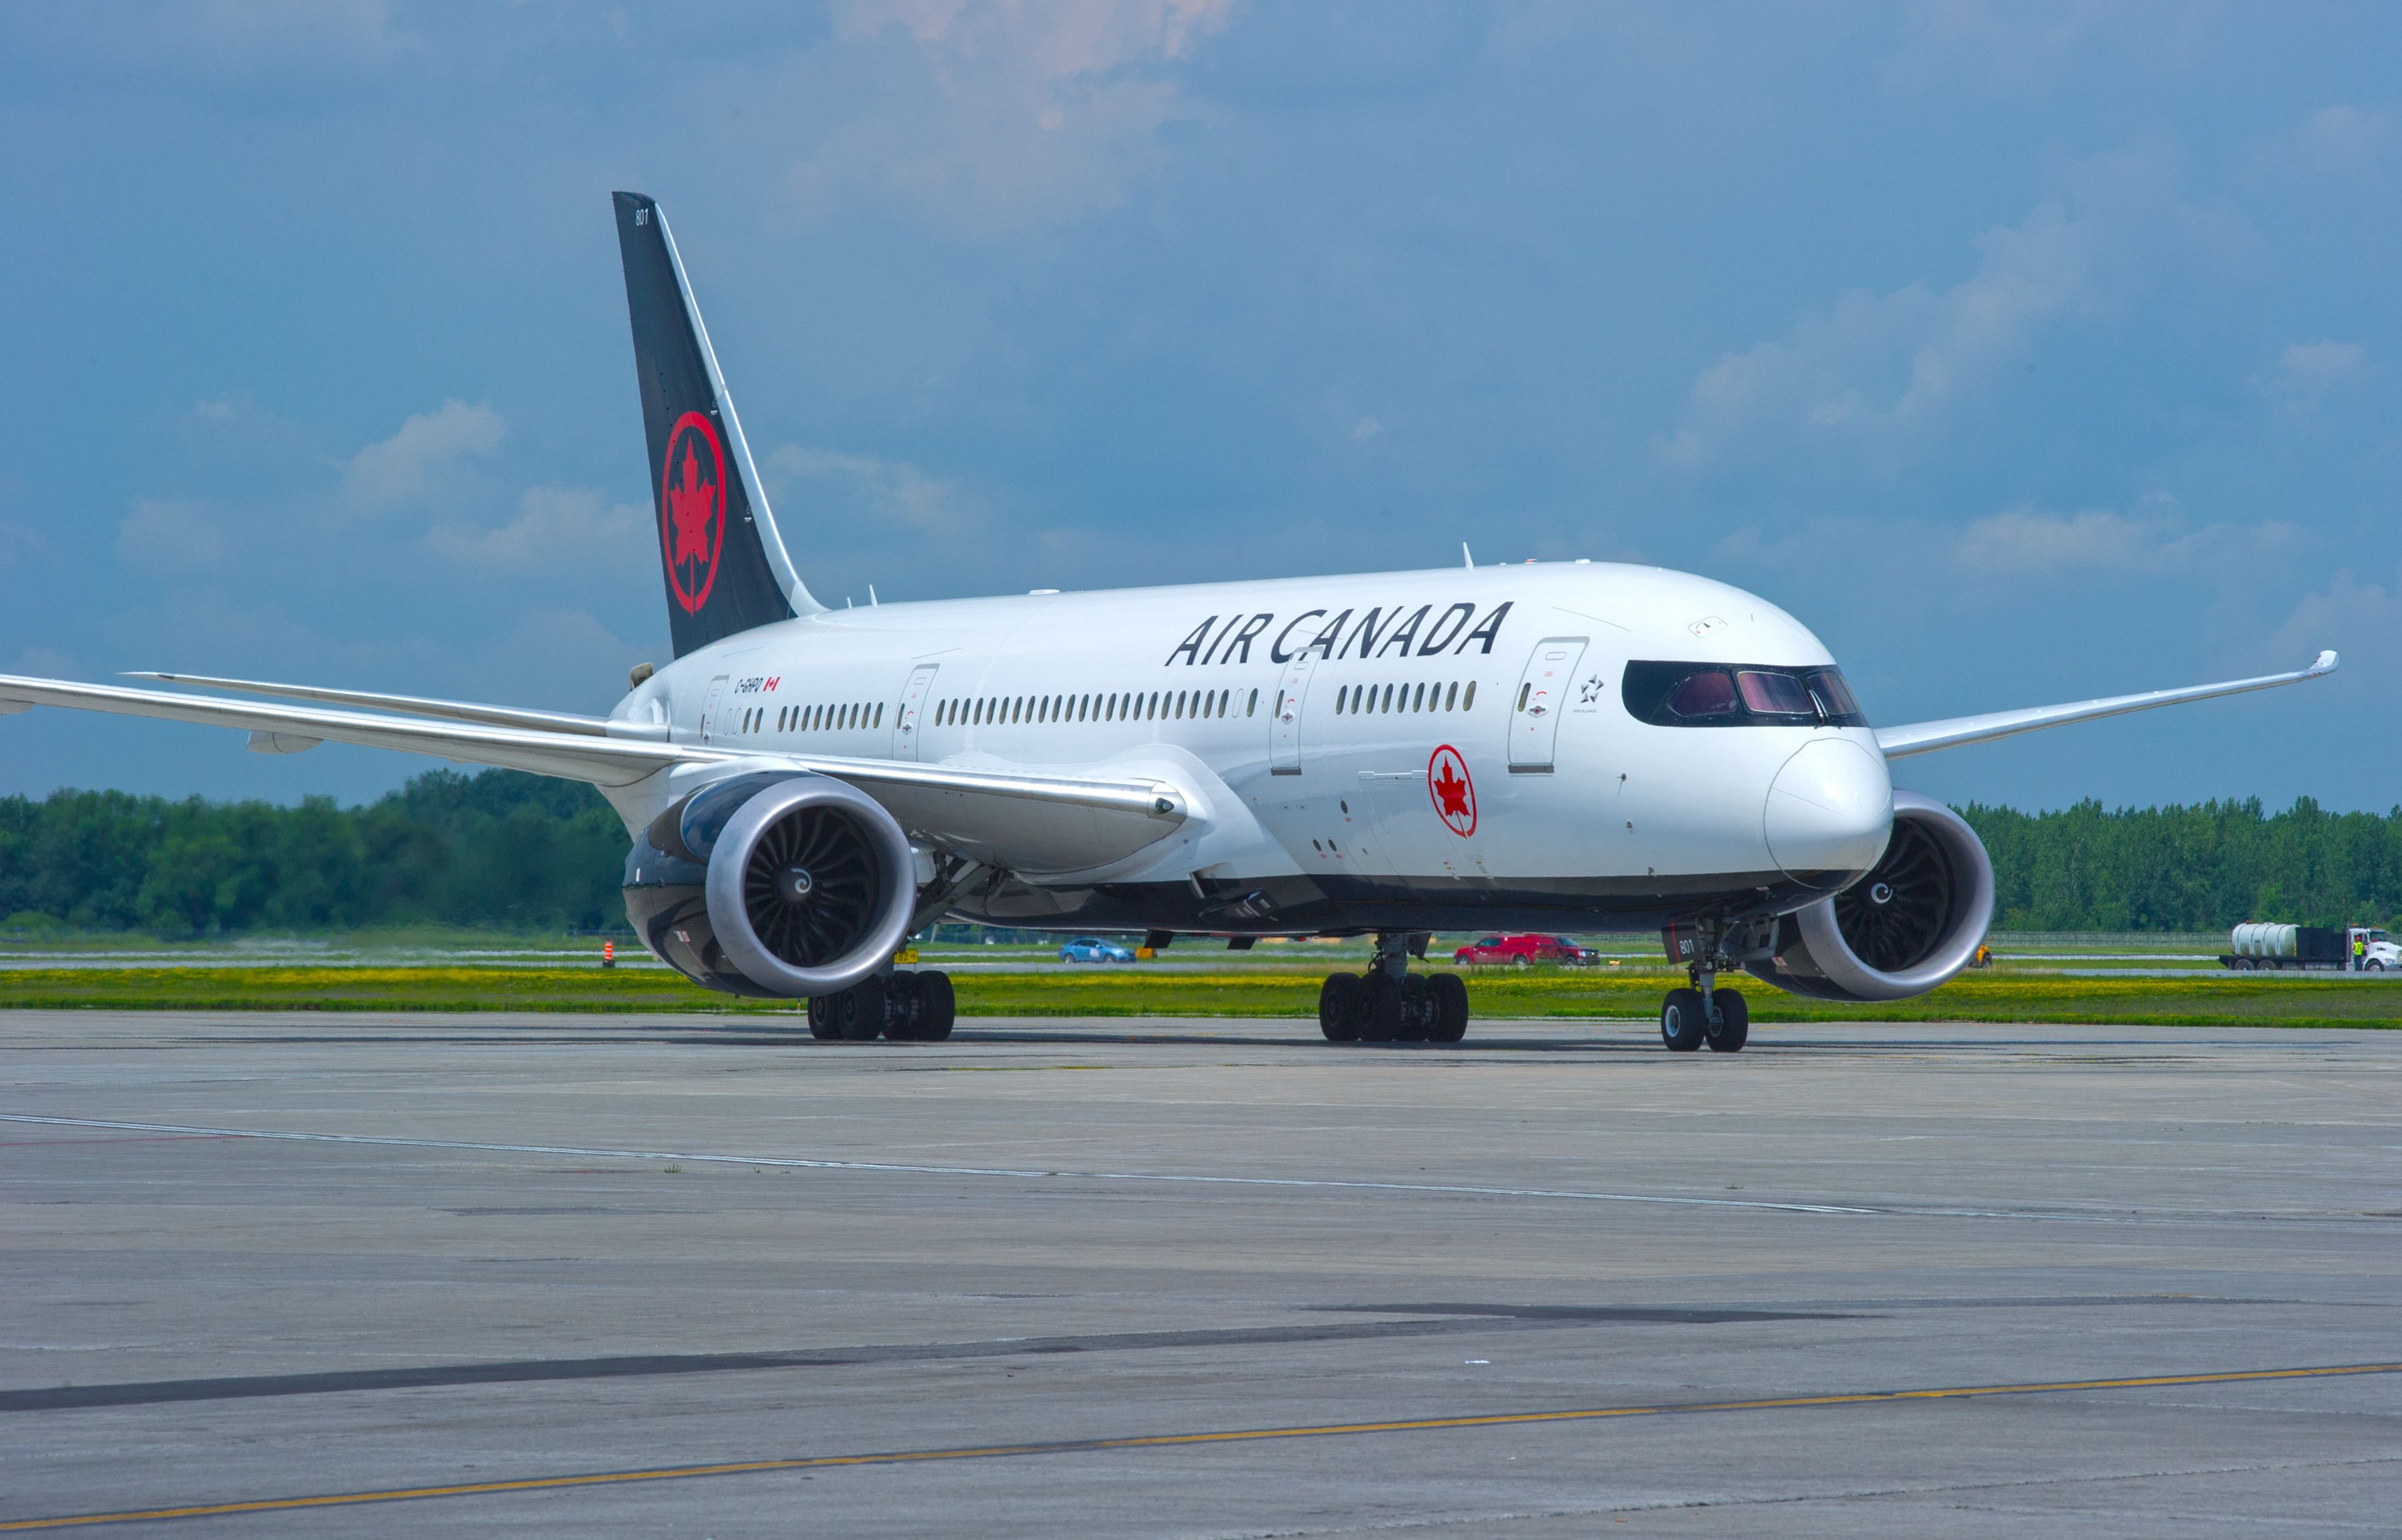
[{"label": "entire white Air Canada airplane with black tail on the tarmac", "polygon": [[[2330,673],[1874,728],[1799,620],[1660,567],[1540,562],[819,603],[769,512],[668,221],[615,195],[675,658],[608,716],[142,673],[0,675],[72,706],[586,781],[625,819],[625,906],[668,966],[807,999],[809,1031],[939,1040],[896,968],[939,918],[1021,930],[1374,937],[1319,990],[1328,1040],[1458,1043],[1436,930],[1660,930],[1665,1047],[1737,1052],[1729,975],[1924,995],[1994,915],[1994,867],[1895,759]],[[231,697],[271,697],[231,699]],[[300,702],[300,704],[281,704]]]}]

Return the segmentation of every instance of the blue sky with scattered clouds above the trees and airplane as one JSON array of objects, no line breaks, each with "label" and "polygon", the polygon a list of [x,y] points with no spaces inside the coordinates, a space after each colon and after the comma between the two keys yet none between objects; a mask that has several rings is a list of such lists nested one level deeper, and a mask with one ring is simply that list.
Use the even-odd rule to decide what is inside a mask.
[{"label": "blue sky with scattered clouds above the trees and airplane", "polygon": [[[665,661],[608,195],[805,579],[1631,560],[1883,723],[2332,682],[1898,766],[2388,810],[2402,10],[0,10],[0,673],[605,711]],[[70,711],[0,793],[428,762]]]}]

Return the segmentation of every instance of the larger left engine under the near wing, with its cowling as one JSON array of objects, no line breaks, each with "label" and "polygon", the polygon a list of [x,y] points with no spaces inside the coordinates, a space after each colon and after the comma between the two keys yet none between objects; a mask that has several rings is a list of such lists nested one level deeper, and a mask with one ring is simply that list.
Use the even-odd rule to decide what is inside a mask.
[{"label": "larger left engine under the near wing, with its cowling", "polygon": [[625,913],[699,985],[800,999],[848,990],[908,935],[918,865],[894,814],[829,776],[759,771],[651,819]]}]

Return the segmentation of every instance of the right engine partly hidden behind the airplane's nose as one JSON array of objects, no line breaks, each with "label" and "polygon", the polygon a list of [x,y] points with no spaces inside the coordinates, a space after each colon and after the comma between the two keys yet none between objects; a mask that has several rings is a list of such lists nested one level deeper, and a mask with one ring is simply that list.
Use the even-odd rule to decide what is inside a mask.
[{"label": "right engine partly hidden behind the airplane's nose", "polygon": [[1967,822],[1893,793],[1883,860],[1833,899],[1777,920],[1753,978],[1814,999],[1910,999],[1967,968],[1994,923],[1994,860]]}]

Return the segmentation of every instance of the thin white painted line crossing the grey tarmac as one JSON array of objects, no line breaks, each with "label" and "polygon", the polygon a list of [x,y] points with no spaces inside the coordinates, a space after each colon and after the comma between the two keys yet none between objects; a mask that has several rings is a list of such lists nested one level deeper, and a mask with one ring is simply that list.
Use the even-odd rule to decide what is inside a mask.
[{"label": "thin white painted line crossing the grey tarmac", "polygon": [[286,1134],[279,1129],[207,1129],[173,1122],[110,1122],[101,1117],[34,1117],[0,1112],[0,1122],[53,1129],[115,1129],[125,1134],[207,1134],[216,1139],[274,1139],[286,1144],[363,1144],[375,1148],[471,1151],[492,1156],[576,1156],[584,1160],[694,1160],[709,1165],[773,1165],[788,1170],[874,1170],[918,1177],[1014,1177],[1064,1182],[1179,1182],[1194,1187],[1316,1187],[1345,1192],[1444,1192],[1480,1199],[1569,1199],[1581,1204],[1669,1204],[1681,1208],[1770,1208],[1777,1213],[1888,1213],[1842,1204],[1770,1204],[1765,1199],[1686,1199],[1641,1192],[1573,1192],[1554,1187],[1463,1187],[1451,1182],[1340,1182],[1331,1177],[1203,1177],[1141,1170],[1033,1170],[1006,1165],[894,1165],[886,1160],[807,1160],[795,1156],[697,1156],[692,1151],[610,1151],[564,1144],[478,1144],[468,1139],[389,1139],[377,1134]]}]

